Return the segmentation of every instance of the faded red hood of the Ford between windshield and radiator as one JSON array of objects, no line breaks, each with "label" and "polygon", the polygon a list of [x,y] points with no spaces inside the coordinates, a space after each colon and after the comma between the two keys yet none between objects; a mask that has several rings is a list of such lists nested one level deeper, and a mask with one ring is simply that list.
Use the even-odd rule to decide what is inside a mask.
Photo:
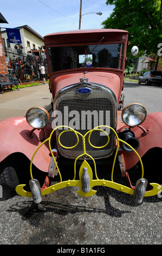
[{"label": "faded red hood of the Ford between windshield and radiator", "polygon": [[119,102],[122,89],[121,72],[118,72],[118,75],[104,71],[88,71],[87,74],[85,74],[84,71],[59,73],[58,75],[51,76],[50,79],[53,97],[55,97],[55,95],[64,87],[70,86],[71,84],[80,83],[80,78],[88,78],[89,83],[101,84],[111,89],[116,96],[117,102]]}]

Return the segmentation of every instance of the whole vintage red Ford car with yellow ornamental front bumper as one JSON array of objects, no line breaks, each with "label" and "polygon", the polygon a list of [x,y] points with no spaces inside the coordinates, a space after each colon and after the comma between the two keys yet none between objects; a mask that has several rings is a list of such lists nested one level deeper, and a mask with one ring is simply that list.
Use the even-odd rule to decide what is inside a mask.
[{"label": "whole vintage red Ford car with yellow ornamental front bumper", "polygon": [[[162,113],[123,107],[128,32],[60,32],[44,42],[53,111],[31,106],[25,117],[1,121],[1,184],[36,204],[70,186],[83,197],[111,187],[138,204],[159,194]],[[119,170],[124,184],[114,181]]]}]

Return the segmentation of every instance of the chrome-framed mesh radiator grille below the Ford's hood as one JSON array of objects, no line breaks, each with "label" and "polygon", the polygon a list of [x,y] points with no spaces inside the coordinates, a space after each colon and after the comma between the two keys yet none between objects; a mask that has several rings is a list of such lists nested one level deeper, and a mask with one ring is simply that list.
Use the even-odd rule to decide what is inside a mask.
[{"label": "chrome-framed mesh radiator grille below the Ford's hood", "polygon": [[[90,93],[79,94],[80,88],[90,89]],[[66,125],[85,135],[87,131],[98,125],[108,125],[113,129],[116,127],[116,102],[115,96],[107,88],[97,84],[79,83],[74,86],[67,87],[55,100],[57,121],[56,125]],[[59,121],[58,121],[59,120]],[[107,157],[113,153],[115,135],[111,129],[101,127],[109,135],[109,143],[104,148],[96,149],[88,143],[88,135],[86,136],[86,153],[94,159]],[[58,136],[65,128],[57,129]],[[73,147],[77,138],[74,132],[68,131],[62,133],[60,142],[65,147]],[[90,136],[90,143],[95,147],[101,147],[107,143],[106,133],[103,131],[93,131]],[[65,149],[59,145],[60,154],[67,158],[76,159],[77,156],[83,154],[82,137],[79,135],[79,143],[73,149]],[[84,158],[84,157],[81,157]]]}]

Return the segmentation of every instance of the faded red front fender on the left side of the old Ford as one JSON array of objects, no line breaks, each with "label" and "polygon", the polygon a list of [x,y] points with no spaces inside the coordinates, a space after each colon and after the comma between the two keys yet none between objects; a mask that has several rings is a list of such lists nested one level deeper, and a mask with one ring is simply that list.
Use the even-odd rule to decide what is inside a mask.
[{"label": "faded red front fender on the left side of the old Ford", "polygon": [[[13,153],[22,153],[31,160],[35,150],[41,144],[39,138],[43,138],[41,130],[35,130],[33,138],[30,138],[27,132],[31,130],[32,127],[24,117],[9,118],[0,122],[0,162]],[[50,132],[51,130],[46,127],[46,138],[49,137]],[[34,157],[34,165],[43,172],[48,172],[49,153],[48,142],[46,142]]]}]

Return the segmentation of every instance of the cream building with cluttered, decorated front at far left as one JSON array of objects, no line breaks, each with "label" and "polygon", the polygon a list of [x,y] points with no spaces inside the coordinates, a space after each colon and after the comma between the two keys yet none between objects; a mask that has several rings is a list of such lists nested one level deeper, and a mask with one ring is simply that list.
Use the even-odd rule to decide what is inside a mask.
[{"label": "cream building with cluttered, decorated front at far left", "polygon": [[20,28],[21,44],[9,44],[7,31],[0,33],[0,50],[3,52],[1,74],[12,75],[22,82],[37,81],[40,80],[39,67],[43,63],[48,76],[43,37],[27,25],[17,28]]}]

